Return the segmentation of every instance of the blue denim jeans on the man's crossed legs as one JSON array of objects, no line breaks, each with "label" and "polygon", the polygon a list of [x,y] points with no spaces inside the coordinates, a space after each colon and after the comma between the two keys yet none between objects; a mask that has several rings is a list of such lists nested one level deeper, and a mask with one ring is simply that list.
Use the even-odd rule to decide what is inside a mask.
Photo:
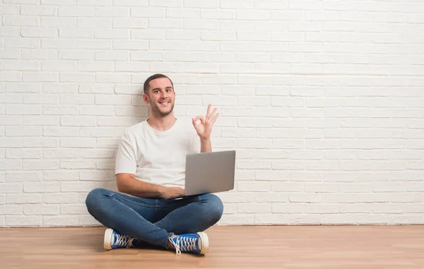
[{"label": "blue denim jeans on the man's crossed legs", "polygon": [[165,200],[94,189],[88,193],[86,205],[102,225],[166,249],[173,234],[204,231],[223,214],[223,203],[211,193]]}]

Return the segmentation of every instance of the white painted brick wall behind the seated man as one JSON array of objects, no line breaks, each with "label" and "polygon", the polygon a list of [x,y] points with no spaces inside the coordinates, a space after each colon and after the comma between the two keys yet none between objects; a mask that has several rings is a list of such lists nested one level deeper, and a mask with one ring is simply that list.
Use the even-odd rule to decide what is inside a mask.
[{"label": "white painted brick wall behind the seated man", "polygon": [[0,227],[97,225],[143,81],[221,114],[220,225],[424,223],[423,1],[3,0]]}]

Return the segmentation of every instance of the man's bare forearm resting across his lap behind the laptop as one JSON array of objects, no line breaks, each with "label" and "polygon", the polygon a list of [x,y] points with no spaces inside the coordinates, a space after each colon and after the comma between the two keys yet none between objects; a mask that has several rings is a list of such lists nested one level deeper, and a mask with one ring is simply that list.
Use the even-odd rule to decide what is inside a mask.
[{"label": "man's bare forearm resting across his lap behind the laptop", "polygon": [[134,174],[121,173],[115,176],[118,191],[141,198],[172,198],[184,195],[184,189],[165,187],[136,179]]}]

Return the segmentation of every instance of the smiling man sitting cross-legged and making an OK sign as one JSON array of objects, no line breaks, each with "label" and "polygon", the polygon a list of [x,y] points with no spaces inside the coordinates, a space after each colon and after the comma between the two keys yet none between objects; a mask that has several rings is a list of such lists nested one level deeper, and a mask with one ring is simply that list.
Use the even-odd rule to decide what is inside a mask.
[{"label": "smiling man sitting cross-legged and making an OK sign", "polygon": [[[153,244],[165,249],[204,254],[203,232],[223,214],[223,203],[211,193],[184,195],[185,156],[208,153],[218,118],[208,105],[206,116],[186,124],[174,116],[175,91],[170,78],[155,74],[144,83],[150,107],[146,121],[127,128],[119,143],[115,178],[119,192],[94,189],[88,212],[106,229],[105,249]],[[126,193],[126,194],[124,194]]]}]

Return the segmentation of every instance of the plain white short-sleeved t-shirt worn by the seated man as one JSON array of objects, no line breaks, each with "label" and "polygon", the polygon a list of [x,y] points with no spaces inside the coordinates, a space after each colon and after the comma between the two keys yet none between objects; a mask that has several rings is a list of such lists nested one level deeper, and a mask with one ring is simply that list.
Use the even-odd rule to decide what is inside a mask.
[{"label": "plain white short-sleeved t-shirt worn by the seated man", "polygon": [[200,153],[200,139],[191,119],[177,119],[167,131],[157,131],[147,121],[126,129],[119,143],[115,174],[184,188],[186,155]]}]

